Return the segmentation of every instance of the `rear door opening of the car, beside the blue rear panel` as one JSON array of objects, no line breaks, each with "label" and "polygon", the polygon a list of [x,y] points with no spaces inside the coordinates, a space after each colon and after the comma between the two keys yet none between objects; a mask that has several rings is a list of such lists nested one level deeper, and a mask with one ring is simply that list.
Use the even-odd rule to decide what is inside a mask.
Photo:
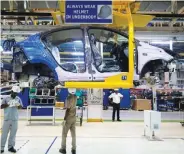
[{"label": "rear door opening of the car, beside the blue rear panel", "polygon": [[62,69],[73,73],[85,72],[85,49],[81,29],[50,33],[44,38],[44,42]]}]

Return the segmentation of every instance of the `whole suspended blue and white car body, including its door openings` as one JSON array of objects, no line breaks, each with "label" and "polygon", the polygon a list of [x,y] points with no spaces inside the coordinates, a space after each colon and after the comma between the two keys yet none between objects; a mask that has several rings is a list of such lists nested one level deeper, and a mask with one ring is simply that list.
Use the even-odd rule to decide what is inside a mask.
[{"label": "whole suspended blue and white car body, including its door openings", "polygon": [[[161,48],[135,40],[135,80],[146,72],[154,73],[173,58]],[[23,74],[40,73],[65,82],[104,81],[128,72],[128,61],[127,34],[110,28],[75,26],[38,33],[17,43],[12,63],[18,79]]]}]

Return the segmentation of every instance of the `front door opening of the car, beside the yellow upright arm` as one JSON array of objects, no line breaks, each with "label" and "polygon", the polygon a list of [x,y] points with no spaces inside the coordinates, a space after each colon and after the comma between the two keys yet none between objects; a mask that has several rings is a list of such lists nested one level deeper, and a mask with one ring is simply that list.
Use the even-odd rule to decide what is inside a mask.
[{"label": "front door opening of the car, beside the yellow upright arm", "polygon": [[106,29],[89,29],[94,65],[99,72],[128,72],[128,38]]}]

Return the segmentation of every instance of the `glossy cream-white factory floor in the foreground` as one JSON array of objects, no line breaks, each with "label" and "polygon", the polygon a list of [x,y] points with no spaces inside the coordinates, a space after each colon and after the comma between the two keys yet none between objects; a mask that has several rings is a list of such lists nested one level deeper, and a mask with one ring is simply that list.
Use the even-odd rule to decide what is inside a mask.
[{"label": "glossy cream-white factory floor in the foreground", "polygon": [[[61,122],[49,123],[19,121],[16,146],[17,154],[59,154]],[[84,123],[77,126],[78,154],[183,154],[184,127],[179,123],[162,123],[156,136],[162,141],[149,141],[143,137],[142,122]],[[71,149],[68,134],[67,153]],[[5,148],[5,154],[8,154]]]}]

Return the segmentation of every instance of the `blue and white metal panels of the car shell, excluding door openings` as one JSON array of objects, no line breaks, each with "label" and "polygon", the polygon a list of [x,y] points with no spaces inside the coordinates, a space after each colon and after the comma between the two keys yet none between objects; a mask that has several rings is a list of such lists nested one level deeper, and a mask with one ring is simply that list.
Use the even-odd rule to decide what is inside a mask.
[{"label": "blue and white metal panels of the car shell, excluding door openings", "polygon": [[[54,30],[50,30],[47,32],[38,33],[28,37],[26,40],[17,43],[14,46],[13,51],[13,60],[16,61],[16,57],[20,56],[20,51],[23,54],[23,61],[29,64],[44,64],[46,65],[54,74],[54,78],[59,81],[104,81],[109,76],[118,75],[122,72],[99,72],[96,67],[92,63],[92,59],[94,59],[94,55],[91,54],[93,51],[91,49],[88,29],[105,29],[108,31],[113,31],[115,33],[121,34],[124,37],[128,38],[128,35],[122,32],[119,32],[115,29],[110,28],[102,28],[102,27],[63,27]],[[80,72],[69,72],[64,70],[53,57],[47,46],[45,46],[42,38],[46,37],[49,34],[57,31],[70,30],[70,29],[81,29],[83,31],[84,37],[84,47],[85,47],[85,66],[86,70],[83,73]],[[90,57],[88,56],[90,55]],[[127,54],[128,56],[128,54]],[[154,60],[164,60],[170,61],[173,59],[173,56],[165,52],[163,49],[151,46],[149,44],[135,41],[135,72],[134,79],[139,79],[139,75],[141,74],[144,66]],[[15,62],[13,63],[15,64]],[[76,67],[77,68],[77,67]]]}]

